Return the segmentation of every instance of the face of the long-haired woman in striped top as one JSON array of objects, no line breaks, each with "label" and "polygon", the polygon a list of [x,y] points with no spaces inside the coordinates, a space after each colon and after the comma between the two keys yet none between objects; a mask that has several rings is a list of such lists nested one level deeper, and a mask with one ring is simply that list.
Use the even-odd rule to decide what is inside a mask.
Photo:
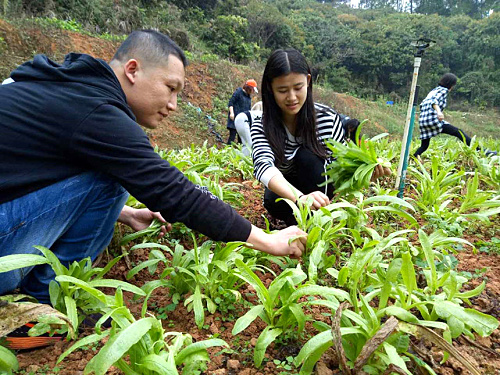
[{"label": "face of the long-haired woman in striped top", "polygon": [[290,73],[279,76],[271,82],[276,104],[283,111],[285,119],[295,118],[307,98],[310,74]]}]

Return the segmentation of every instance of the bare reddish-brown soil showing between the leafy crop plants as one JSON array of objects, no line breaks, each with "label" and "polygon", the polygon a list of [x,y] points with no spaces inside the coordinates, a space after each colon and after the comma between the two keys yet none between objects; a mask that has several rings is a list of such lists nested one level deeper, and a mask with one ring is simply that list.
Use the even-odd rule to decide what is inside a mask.
[{"label": "bare reddish-brown soil showing between the leafy crop plants", "polygon": [[[246,216],[250,221],[259,226],[264,226],[263,215],[266,216],[265,210],[261,204],[262,188],[260,186],[254,187],[250,181],[241,181],[243,185],[242,193],[244,195],[245,204],[239,212],[241,215]],[[490,232],[488,232],[490,233]],[[492,234],[490,233],[490,236]],[[478,237],[475,235],[465,235],[465,239],[475,242]],[[483,240],[488,240],[481,236]],[[139,249],[131,254],[131,261],[138,264],[147,260],[148,253],[145,249]],[[465,249],[457,256],[459,259],[459,271],[467,271],[475,274],[470,287],[479,285],[483,280],[486,281],[486,288],[483,293],[471,300],[472,307],[500,318],[500,257],[498,255],[490,255],[484,252],[473,254],[471,250]],[[106,259],[102,260],[100,266],[104,266],[107,262]],[[277,269],[276,269],[277,270]],[[129,269],[122,260],[108,274],[108,277],[118,280],[126,280],[125,275]],[[160,271],[157,271],[160,272]],[[269,285],[273,276],[270,273],[258,274],[260,279],[265,285]],[[155,278],[155,275],[150,275],[146,270],[141,271],[132,280],[129,280],[135,285],[143,285],[145,282]],[[255,296],[251,287],[245,287],[240,290],[242,296],[249,302],[255,302]],[[129,307],[137,316],[140,314],[141,305],[132,301],[132,296],[128,294]],[[148,305],[149,312],[157,314],[154,306],[166,306],[171,304],[172,301],[168,297],[168,292],[165,289],[159,288],[155,294],[150,298]],[[235,312],[236,317],[245,313],[246,309],[241,309]],[[329,312],[316,308],[312,311],[314,317],[322,320],[327,324],[331,324],[331,317],[322,314]],[[252,363],[253,347],[256,343],[256,337],[264,329],[265,324],[257,319],[245,331],[237,336],[232,336],[231,330],[233,328],[235,319],[227,319],[227,315],[215,313],[214,315],[207,315],[205,320],[204,329],[198,330],[194,322],[194,314],[188,312],[182,304],[168,313],[167,319],[164,319],[164,326],[171,331],[187,332],[190,333],[194,340],[208,339],[213,334],[218,334],[220,338],[226,340],[231,346],[232,351],[223,351],[219,348],[210,350],[211,362],[208,371],[205,374],[225,374],[225,375],[282,375],[282,374],[295,374],[298,370],[286,371],[279,368],[272,360],[285,361],[285,358],[290,355],[296,355],[300,351],[301,345],[305,342],[292,343],[287,346],[271,345],[266,353],[266,358],[272,359],[265,362],[262,368],[256,369]],[[86,334],[90,334],[89,331]],[[310,323],[306,326],[306,335],[313,335],[316,331]],[[83,335],[82,335],[83,336]],[[431,346],[426,342],[414,342],[419,350],[425,355],[428,363],[432,364],[434,371],[443,375],[459,375],[467,374],[467,370],[454,358],[450,358],[446,363],[440,364],[443,353],[436,347]],[[42,348],[29,352],[19,352],[18,360],[20,368],[27,373],[33,374],[50,374],[50,369],[54,368],[57,357],[71,346],[70,342],[59,342],[52,347]],[[481,338],[477,337],[475,341],[471,341],[464,337],[454,340],[454,346],[460,353],[469,359],[478,369],[481,374],[498,375],[500,374],[500,330],[496,330],[490,337]],[[77,351],[71,354],[59,366],[57,374],[83,374],[83,369],[86,363],[95,355],[96,351]],[[338,363],[335,355],[331,350],[327,351],[318,363],[317,374],[329,375],[340,374]],[[120,374],[116,369],[109,372],[109,374]]]}]

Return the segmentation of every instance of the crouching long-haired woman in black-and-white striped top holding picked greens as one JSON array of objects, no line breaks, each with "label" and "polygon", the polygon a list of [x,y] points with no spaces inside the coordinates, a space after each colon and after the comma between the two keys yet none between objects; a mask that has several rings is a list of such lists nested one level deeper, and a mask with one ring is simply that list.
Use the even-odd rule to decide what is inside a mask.
[{"label": "crouching long-haired woman in black-and-white striped top holding picked greens", "polygon": [[[265,185],[264,207],[287,225],[296,223],[292,209],[278,198],[306,202],[312,209],[330,203],[334,186],[323,173],[332,161],[325,142],[344,142],[340,116],[314,103],[311,69],[295,49],[274,51],[262,78],[262,119],[252,124],[254,175]],[[390,174],[378,165],[374,177]]]}]

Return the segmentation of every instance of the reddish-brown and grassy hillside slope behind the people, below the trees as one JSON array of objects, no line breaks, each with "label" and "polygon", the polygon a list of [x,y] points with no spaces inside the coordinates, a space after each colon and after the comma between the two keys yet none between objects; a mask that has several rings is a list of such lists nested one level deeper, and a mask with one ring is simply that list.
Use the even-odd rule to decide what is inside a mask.
[{"label": "reddish-brown and grassy hillside slope behind the people, below the trees", "polygon": [[[56,61],[62,61],[69,52],[87,53],[109,61],[118,45],[117,41],[41,26],[29,20],[14,23],[0,19],[0,78],[6,78],[17,65],[37,53],[46,54]],[[205,141],[215,143],[214,133],[207,125],[207,115],[214,119],[216,131],[226,140],[228,99],[246,79],[254,78],[260,82],[263,70],[262,67],[236,65],[222,59],[212,58],[207,62],[197,58],[193,60],[187,67],[185,89],[178,110],[158,129],[147,131],[152,144],[160,148],[182,148]],[[383,99],[370,102],[317,86],[315,99],[351,117],[370,119],[364,129],[369,135],[389,132],[400,137],[403,133],[406,102],[387,106]],[[482,110],[480,113],[448,111],[448,116],[450,122],[472,135],[498,137],[500,116],[497,110]]]}]

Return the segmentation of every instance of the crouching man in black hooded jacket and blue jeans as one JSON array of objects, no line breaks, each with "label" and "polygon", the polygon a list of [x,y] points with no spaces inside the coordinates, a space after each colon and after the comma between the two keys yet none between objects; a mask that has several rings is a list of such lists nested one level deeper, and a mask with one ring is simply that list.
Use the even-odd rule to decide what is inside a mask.
[{"label": "crouching man in black hooded jacket and blue jeans", "polygon": [[[0,256],[49,247],[64,263],[108,245],[117,219],[134,229],[159,212],[169,222],[221,241],[300,256],[296,227],[270,235],[189,182],[161,159],[138,125],[155,128],[177,107],[187,64],[165,35],[133,32],[112,61],[69,54],[62,65],[37,55],[0,87]],[[128,193],[151,211],[124,208]],[[0,274],[49,303],[48,265]]]}]

